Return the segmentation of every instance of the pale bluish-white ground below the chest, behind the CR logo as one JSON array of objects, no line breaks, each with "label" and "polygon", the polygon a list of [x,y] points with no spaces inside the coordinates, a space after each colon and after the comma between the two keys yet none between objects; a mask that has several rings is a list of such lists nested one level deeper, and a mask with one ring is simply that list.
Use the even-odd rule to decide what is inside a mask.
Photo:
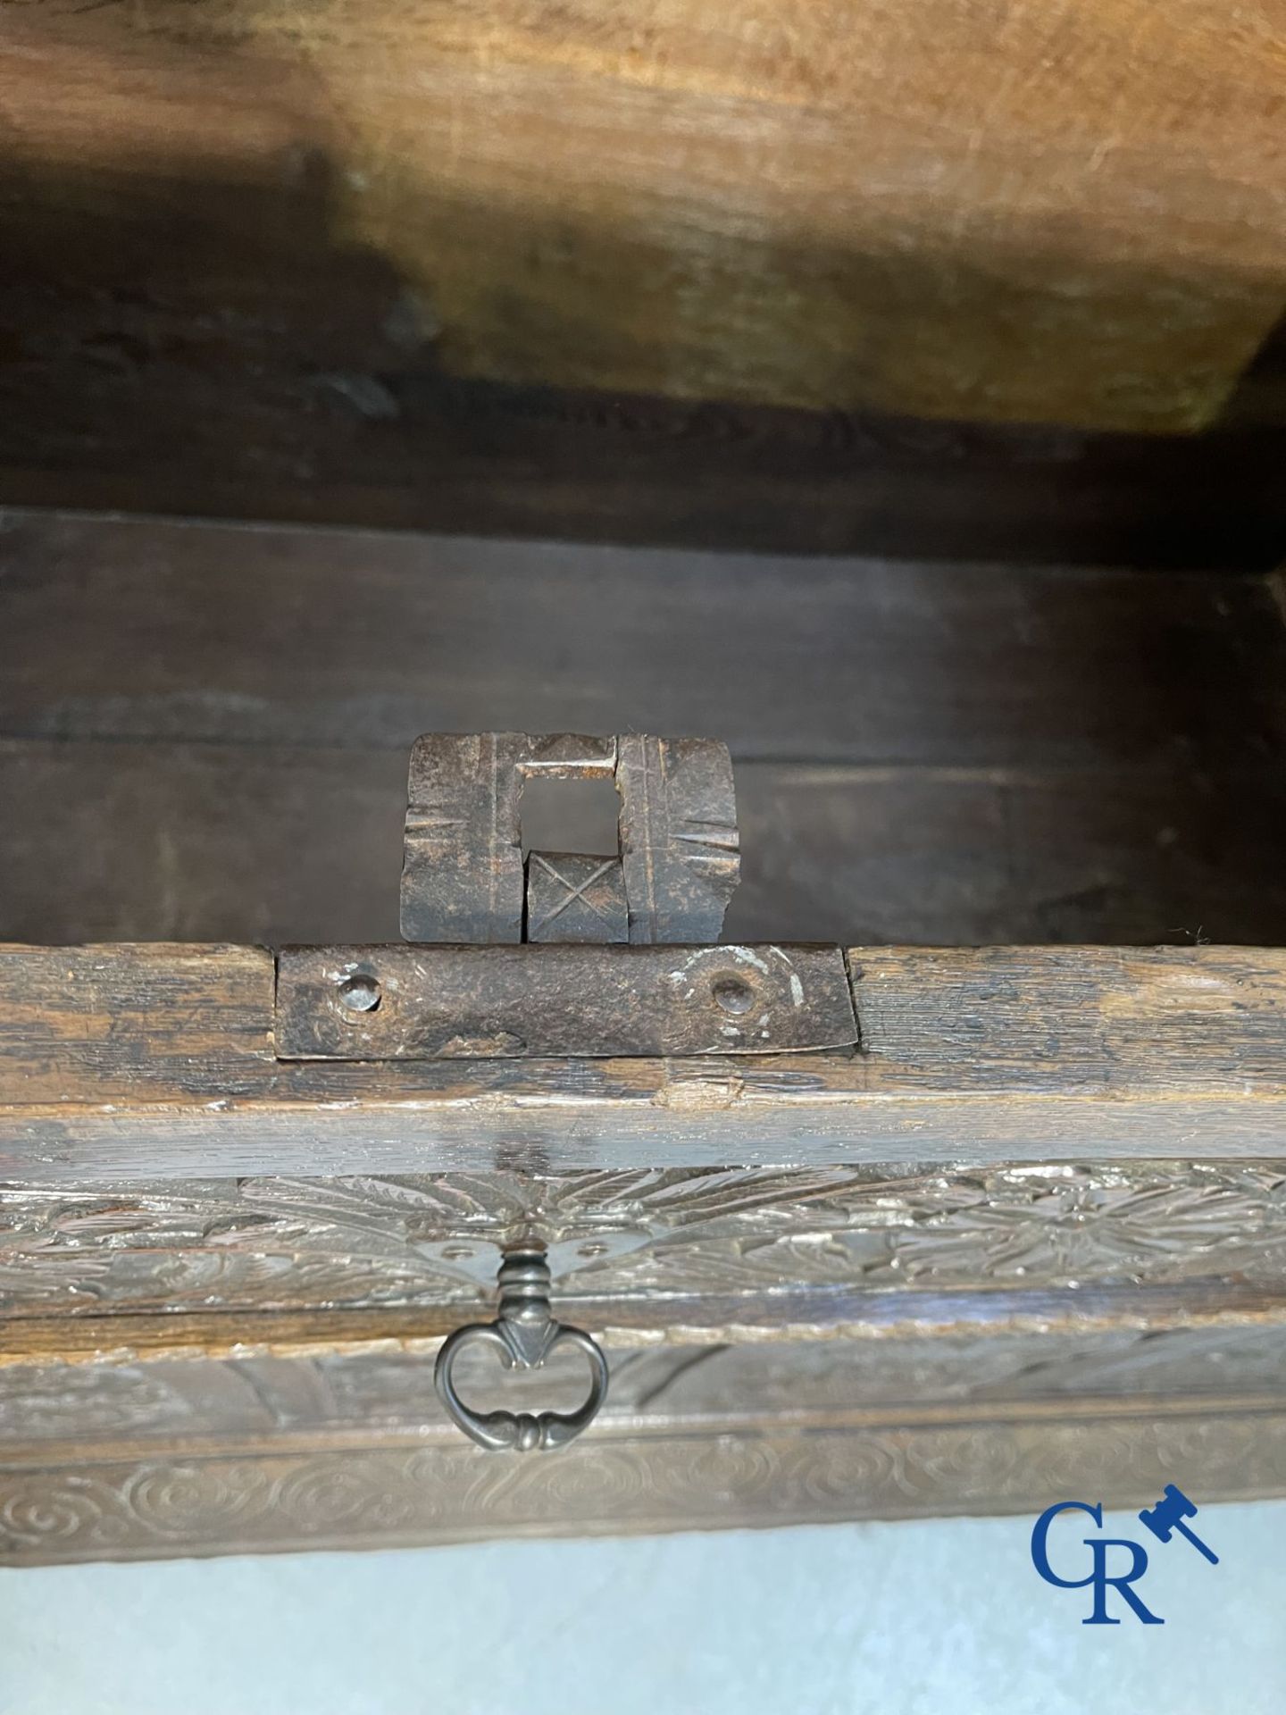
[{"label": "pale bluish-white ground below the chest, behind the CR logo", "polygon": [[0,1571],[0,1712],[1283,1715],[1286,1501],[1195,1523],[1164,1626],[1082,1626],[1025,1518]]}]

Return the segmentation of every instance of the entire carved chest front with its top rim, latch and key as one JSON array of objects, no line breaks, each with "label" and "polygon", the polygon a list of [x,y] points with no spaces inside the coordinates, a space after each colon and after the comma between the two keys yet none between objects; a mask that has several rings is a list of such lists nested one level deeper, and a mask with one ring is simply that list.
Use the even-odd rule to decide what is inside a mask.
[{"label": "entire carved chest front with its top rim, latch and key", "polygon": [[736,875],[720,746],[429,737],[401,945],[5,948],[3,1556],[1286,1489],[1286,957],[718,943]]}]

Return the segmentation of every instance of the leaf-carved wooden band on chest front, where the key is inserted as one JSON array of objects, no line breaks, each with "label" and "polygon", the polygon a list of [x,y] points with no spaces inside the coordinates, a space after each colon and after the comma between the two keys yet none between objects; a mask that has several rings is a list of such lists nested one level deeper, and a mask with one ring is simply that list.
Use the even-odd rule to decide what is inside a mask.
[{"label": "leaf-carved wooden band on chest front, where the key is inserted", "polygon": [[1286,1276],[1286,1164],[245,1178],[0,1195],[0,1309],[470,1302],[501,1249],[564,1295]]}]

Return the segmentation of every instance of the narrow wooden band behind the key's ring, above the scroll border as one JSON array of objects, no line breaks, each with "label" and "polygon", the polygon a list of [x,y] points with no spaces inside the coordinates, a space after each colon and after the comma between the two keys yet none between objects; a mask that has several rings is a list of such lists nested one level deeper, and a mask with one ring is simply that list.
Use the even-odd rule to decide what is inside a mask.
[{"label": "narrow wooden band behind the key's ring, above the scroll border", "polygon": [[[1193,1406],[1243,1405],[1286,1410],[1281,1321],[1219,1327],[1085,1326],[1036,1329],[960,1327],[921,1334],[885,1329],[878,1338],[777,1339],[703,1345],[694,1334],[652,1346],[614,1345],[612,1384],[600,1430],[662,1430],[756,1423],[768,1411],[852,1425],[950,1422],[993,1411],[1012,1420],[1068,1420],[1139,1410],[1145,1393],[1159,1417]],[[29,1459],[75,1441],[87,1453],[158,1451],[165,1441],[206,1432],[235,1434],[242,1446],[271,1437],[300,1451],[322,1437],[353,1444],[420,1439],[442,1444],[451,1430],[432,1386],[425,1351],[315,1351],[310,1357],[202,1360],[151,1357],[98,1372],[81,1363],[9,1362],[0,1369],[0,1456]],[[509,1394],[523,1405],[542,1394],[576,1398],[574,1363],[550,1360],[549,1374],[487,1374],[461,1363],[470,1389]],[[94,1398],[94,1393],[98,1394]],[[583,1444],[585,1447],[586,1444]],[[513,1466],[516,1461],[506,1461]]]}]

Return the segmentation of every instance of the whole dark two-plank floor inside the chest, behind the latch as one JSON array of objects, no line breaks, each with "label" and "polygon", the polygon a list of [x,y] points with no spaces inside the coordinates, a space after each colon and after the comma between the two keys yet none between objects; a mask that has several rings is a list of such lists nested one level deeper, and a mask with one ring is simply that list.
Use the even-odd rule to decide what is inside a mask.
[{"label": "whole dark two-plank floor inside the chest, behind the latch", "polygon": [[[36,514],[0,936],[396,940],[406,749],[497,722],[725,737],[729,938],[1286,942],[1255,578]],[[598,849],[564,815],[537,844]]]}]

